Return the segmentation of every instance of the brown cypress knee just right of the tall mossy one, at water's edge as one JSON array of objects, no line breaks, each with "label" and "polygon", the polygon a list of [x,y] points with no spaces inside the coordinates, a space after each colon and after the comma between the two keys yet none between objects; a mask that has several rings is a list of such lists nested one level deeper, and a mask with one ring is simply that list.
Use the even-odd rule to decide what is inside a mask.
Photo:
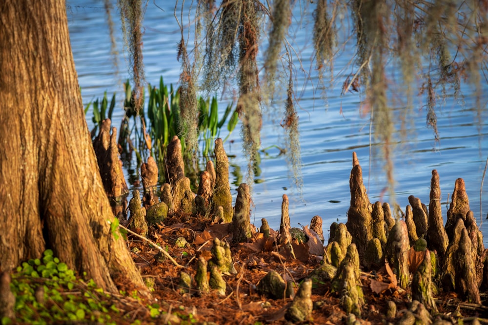
[{"label": "brown cypress knee just right of the tall mossy one, at water's edge", "polygon": [[252,237],[253,227],[251,225],[251,196],[249,186],[245,183],[237,189],[236,206],[232,217],[232,241],[244,243]]}]

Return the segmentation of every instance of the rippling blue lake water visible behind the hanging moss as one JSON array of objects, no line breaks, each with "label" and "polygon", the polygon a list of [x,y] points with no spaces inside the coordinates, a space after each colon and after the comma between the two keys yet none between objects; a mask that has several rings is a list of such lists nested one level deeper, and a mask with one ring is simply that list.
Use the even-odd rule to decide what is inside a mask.
[{"label": "rippling blue lake water visible behind the hanging moss", "polygon": [[[160,76],[164,77],[166,84],[177,84],[180,74],[180,63],[176,60],[176,54],[181,34],[173,15],[174,4],[170,2],[149,1],[143,21],[146,80],[152,84],[157,84]],[[118,56],[120,64],[117,72],[110,55],[110,36],[103,5],[100,1],[68,0],[67,7],[71,46],[83,102],[102,97],[104,91],[110,96],[117,92],[121,95],[118,98],[122,101],[122,82],[128,76],[126,59],[123,55]],[[363,98],[357,93],[341,96],[342,84],[352,72],[350,67],[345,68],[351,59],[352,49],[346,48],[344,55],[335,61],[335,80],[331,89],[327,90],[326,99],[322,96],[321,90],[314,90],[318,76],[314,66],[308,70],[313,46],[310,24],[307,24],[313,8],[310,4],[308,7],[295,7],[292,30],[289,34],[290,41],[301,53],[305,69],[311,76],[311,79],[305,82],[305,76],[298,73],[296,80],[297,93],[300,95],[298,113],[303,160],[302,195],[293,185],[285,156],[279,155],[276,148],[262,153],[262,172],[257,178],[263,182],[253,185],[252,194],[254,206],[251,221],[258,227],[261,218],[266,218],[272,228],[279,228],[283,194],[287,194],[290,199],[292,227],[298,226],[298,223],[309,224],[314,215],[320,215],[324,219],[325,232],[333,221],[346,222],[353,151],[357,152],[363,167],[364,182],[370,201],[390,201],[387,194],[381,195],[387,184],[381,169],[382,162],[376,156],[370,155],[369,119],[360,113],[360,101]],[[115,22],[118,50],[122,53],[120,16],[116,10],[112,11],[112,17]],[[455,100],[452,96],[447,97],[445,102],[438,100],[438,103],[441,103],[437,110],[441,137],[439,143],[435,142],[432,130],[426,127],[426,108],[422,109],[420,103],[413,108],[413,124],[409,135],[394,151],[395,198],[403,210],[408,204],[409,195],[415,195],[428,204],[431,171],[437,169],[440,175],[442,201],[446,202],[448,195],[450,199],[456,178],[462,177],[466,183],[470,208],[478,219],[478,225],[480,219],[483,223],[487,222],[487,185],[484,186],[480,201],[481,180],[488,155],[488,86],[482,82],[482,87],[482,103],[485,110],[481,124],[478,124],[475,118],[475,100],[472,96],[473,90],[469,86],[462,85],[462,100]],[[224,109],[227,104],[228,101],[223,101],[220,108]],[[115,125],[120,125],[123,115],[122,102],[118,107],[112,118]],[[281,116],[282,112],[265,118],[262,131],[263,148],[272,145],[285,147],[286,136],[284,129],[279,126]],[[89,112],[89,126],[92,125],[91,117],[92,113]],[[221,134],[222,137],[225,135]],[[235,175],[244,174],[245,179],[247,162],[242,153],[239,131],[236,130],[230,139],[234,142],[227,142],[225,149],[228,154],[235,155],[235,158],[230,159],[231,189],[235,199],[235,190],[239,185],[238,177]],[[488,179],[485,183],[488,183]],[[480,202],[483,204],[481,213]],[[444,218],[446,211],[446,205],[443,205]],[[481,228],[487,245],[488,227],[482,224]]]}]

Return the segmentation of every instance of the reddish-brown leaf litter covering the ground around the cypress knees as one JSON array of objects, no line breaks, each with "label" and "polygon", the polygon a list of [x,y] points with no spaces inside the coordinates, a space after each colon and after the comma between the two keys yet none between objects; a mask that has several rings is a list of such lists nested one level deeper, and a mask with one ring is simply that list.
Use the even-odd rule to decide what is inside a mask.
[{"label": "reddish-brown leaf litter covering the ground around the cypress knees", "polygon": [[[179,286],[180,272],[184,270],[194,279],[198,257],[203,256],[207,260],[211,257],[213,237],[229,242],[231,237],[227,225],[210,226],[185,217],[166,220],[165,224],[151,229],[148,238],[166,250],[183,268],[175,266],[148,242],[129,236],[128,247],[142,276],[151,284],[155,300],[142,299],[138,308],[134,308],[134,302],[128,304],[122,313],[121,323],[131,324],[139,320],[141,324],[291,324],[284,315],[292,300],[259,295],[256,285],[269,271],[275,270],[285,281],[291,280],[299,286],[321,265],[321,256],[302,251],[294,259],[283,250],[280,252],[273,240],[255,235],[248,243],[231,246],[237,274],[224,275],[224,296],[212,290],[208,294],[193,289],[183,293]],[[187,244],[178,248],[175,242],[181,237]],[[330,292],[330,281],[317,281],[312,287],[313,312],[307,321],[300,324],[410,324],[401,323],[411,304],[408,290],[392,286],[381,272],[363,272],[361,278],[366,305],[356,323],[341,309],[340,297]],[[373,292],[372,280],[385,284],[387,289],[381,293]],[[396,305],[394,318],[386,319],[387,301]],[[161,312],[157,317],[151,317],[147,308],[153,303],[158,304],[154,306],[158,306]],[[471,324],[473,321],[473,324],[478,324],[478,321],[488,324],[486,308],[463,303],[454,293],[438,294],[436,305],[439,313],[433,315],[431,321],[448,322],[438,324]],[[417,322],[421,324],[419,322],[422,321],[417,319]]]}]

